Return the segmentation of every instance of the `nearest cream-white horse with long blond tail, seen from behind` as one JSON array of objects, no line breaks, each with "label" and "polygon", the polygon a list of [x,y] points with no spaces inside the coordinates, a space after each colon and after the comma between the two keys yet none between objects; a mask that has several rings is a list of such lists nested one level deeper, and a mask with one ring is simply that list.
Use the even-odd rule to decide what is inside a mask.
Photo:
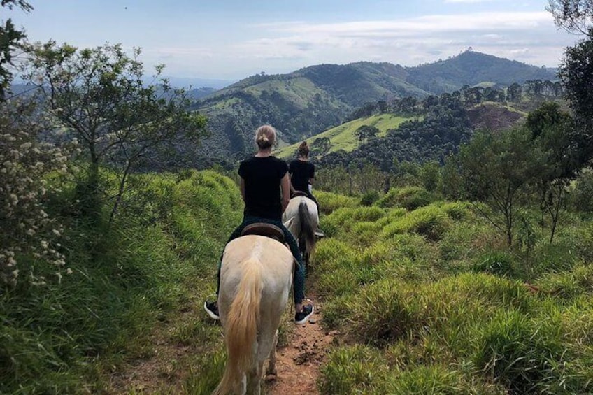
[{"label": "nearest cream-white horse with long blond tail, seen from behind", "polygon": [[241,236],[224,248],[218,308],[227,365],[213,394],[259,394],[264,361],[276,374],[278,326],[292,287],[293,257],[265,236]]}]

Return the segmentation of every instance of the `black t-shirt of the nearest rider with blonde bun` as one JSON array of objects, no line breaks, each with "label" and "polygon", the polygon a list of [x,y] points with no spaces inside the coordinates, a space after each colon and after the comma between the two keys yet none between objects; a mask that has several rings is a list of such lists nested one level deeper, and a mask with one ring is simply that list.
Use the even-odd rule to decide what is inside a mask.
[{"label": "black t-shirt of the nearest rider with blonde bun", "polygon": [[245,180],[245,217],[282,220],[280,180],[288,171],[285,161],[276,157],[250,157],[239,165]]}]

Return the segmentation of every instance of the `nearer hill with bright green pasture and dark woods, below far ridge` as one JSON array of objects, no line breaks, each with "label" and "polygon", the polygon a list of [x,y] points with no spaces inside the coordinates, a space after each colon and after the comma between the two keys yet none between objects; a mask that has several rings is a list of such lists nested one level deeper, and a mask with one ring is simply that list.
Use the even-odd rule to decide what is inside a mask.
[{"label": "nearer hill with bright green pasture and dark woods, below far ridge", "polygon": [[[394,171],[401,161],[439,161],[467,143],[476,131],[503,131],[522,122],[544,101],[565,105],[559,82],[527,81],[507,89],[463,87],[459,91],[367,103],[349,122],[308,138],[322,166],[373,164]],[[294,157],[299,143],[276,151]]]}]

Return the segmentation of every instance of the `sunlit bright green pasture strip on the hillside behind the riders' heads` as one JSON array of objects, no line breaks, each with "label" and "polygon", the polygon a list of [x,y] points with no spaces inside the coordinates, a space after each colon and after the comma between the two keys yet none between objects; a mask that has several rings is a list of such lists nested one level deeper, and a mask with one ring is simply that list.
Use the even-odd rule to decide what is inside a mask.
[{"label": "sunlit bright green pasture strip on the hillside behind the riders' heads", "polygon": [[[358,139],[355,136],[355,131],[363,125],[376,127],[380,130],[378,137],[384,137],[390,129],[397,129],[402,122],[410,120],[410,118],[400,117],[393,114],[371,115],[368,118],[359,118],[333,127],[313,137],[307,138],[309,145],[317,138],[327,137],[331,142],[331,149],[329,152],[338,150],[345,150],[350,152],[358,147]],[[299,143],[287,145],[275,152],[275,155],[280,158],[287,158],[294,155],[294,152],[299,148]]]}]

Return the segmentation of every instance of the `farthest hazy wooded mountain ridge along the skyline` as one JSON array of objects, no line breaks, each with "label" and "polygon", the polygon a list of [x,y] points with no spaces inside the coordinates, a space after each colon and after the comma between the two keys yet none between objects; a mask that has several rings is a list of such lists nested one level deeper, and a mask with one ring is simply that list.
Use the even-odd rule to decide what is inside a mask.
[{"label": "farthest hazy wooded mountain ridge along the skyline", "polygon": [[415,67],[357,62],[262,73],[196,101],[192,109],[208,117],[211,136],[203,141],[203,155],[238,159],[251,151],[252,133],[260,124],[273,124],[280,141],[295,143],[342,124],[365,103],[555,79],[550,69],[467,50]]}]

